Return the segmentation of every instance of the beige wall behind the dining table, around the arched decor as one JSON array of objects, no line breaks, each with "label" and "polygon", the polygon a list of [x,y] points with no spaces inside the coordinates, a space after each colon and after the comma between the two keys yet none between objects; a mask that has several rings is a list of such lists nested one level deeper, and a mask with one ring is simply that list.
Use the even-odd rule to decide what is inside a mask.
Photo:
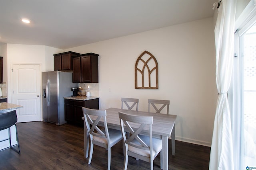
[{"label": "beige wall behind the dining table, around the arched decor", "polygon": [[[66,51],[100,55],[100,109],[121,107],[122,97],[139,98],[141,111],[149,98],[170,100],[176,139],[210,146],[217,100],[213,27],[207,18]],[[158,61],[158,90],[134,88],[136,59],[145,50]]]}]

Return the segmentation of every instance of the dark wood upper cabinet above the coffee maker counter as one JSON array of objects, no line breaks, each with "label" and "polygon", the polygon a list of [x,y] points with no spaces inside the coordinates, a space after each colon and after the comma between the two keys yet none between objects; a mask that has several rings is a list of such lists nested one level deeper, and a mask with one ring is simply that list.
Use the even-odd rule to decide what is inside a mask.
[{"label": "dark wood upper cabinet above the coffee maker counter", "polygon": [[73,57],[73,83],[98,83],[98,54],[86,53]]}]

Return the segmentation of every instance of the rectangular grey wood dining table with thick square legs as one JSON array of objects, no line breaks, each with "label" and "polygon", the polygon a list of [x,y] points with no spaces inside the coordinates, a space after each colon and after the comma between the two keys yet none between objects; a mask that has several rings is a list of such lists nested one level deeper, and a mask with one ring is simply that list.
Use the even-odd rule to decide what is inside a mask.
[{"label": "rectangular grey wood dining table with thick square legs", "polygon": [[[126,113],[130,115],[143,115],[143,116],[152,116],[153,124],[152,124],[152,135],[155,138],[162,139],[162,151],[161,151],[161,169],[168,170],[168,139],[171,137],[172,141],[172,155],[175,155],[175,121],[177,115],[171,114],[162,114],[162,113],[152,113],[146,111],[136,111],[136,110],[127,110],[127,109],[119,109],[119,108],[108,108],[106,109],[106,120],[108,128],[121,130],[120,119],[118,117],[118,113]],[[94,117],[91,117],[93,120]],[[84,117],[82,117],[84,119]],[[98,125],[104,126],[103,119],[100,120]],[[143,131],[142,131],[143,133]],[[88,158],[88,150],[89,150],[89,134],[87,133],[86,125],[84,123],[84,157]]]}]

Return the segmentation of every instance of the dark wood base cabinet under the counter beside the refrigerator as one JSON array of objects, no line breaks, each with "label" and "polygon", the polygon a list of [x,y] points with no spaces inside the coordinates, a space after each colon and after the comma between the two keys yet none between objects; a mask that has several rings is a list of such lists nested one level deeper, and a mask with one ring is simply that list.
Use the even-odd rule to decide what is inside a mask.
[{"label": "dark wood base cabinet under the counter beside the refrigerator", "polygon": [[84,126],[82,107],[99,109],[99,99],[84,101],[65,99],[65,120],[73,125]]}]

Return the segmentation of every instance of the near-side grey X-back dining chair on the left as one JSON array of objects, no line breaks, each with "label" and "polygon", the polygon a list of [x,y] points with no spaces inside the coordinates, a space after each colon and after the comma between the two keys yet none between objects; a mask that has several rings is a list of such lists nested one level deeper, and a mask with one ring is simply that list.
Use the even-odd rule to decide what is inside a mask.
[{"label": "near-side grey X-back dining chair on the left", "polygon": [[[90,138],[88,164],[90,164],[92,161],[93,146],[98,145],[108,150],[108,170],[110,170],[111,147],[122,140],[122,132],[116,129],[108,129],[106,121],[106,110],[89,109],[86,107],[82,107],[82,110],[84,113],[86,129]],[[92,116],[97,117],[95,121],[92,120]],[[103,129],[100,129],[98,126],[100,120],[104,121]]]}]

